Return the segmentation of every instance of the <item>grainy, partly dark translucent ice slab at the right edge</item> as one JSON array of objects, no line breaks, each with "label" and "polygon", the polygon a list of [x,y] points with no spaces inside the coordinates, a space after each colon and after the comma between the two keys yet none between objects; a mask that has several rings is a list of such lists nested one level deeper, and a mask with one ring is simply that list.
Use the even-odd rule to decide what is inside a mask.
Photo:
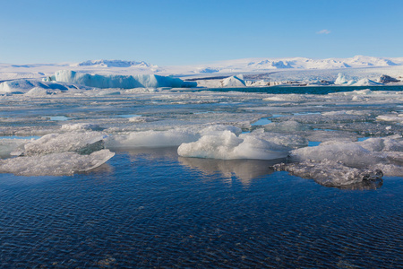
[{"label": "grainy, partly dark translucent ice slab at the right edge", "polygon": [[403,138],[393,135],[368,138],[356,143],[325,142],[296,149],[291,163],[275,167],[302,178],[313,178],[325,186],[341,186],[382,176],[403,175]]}]

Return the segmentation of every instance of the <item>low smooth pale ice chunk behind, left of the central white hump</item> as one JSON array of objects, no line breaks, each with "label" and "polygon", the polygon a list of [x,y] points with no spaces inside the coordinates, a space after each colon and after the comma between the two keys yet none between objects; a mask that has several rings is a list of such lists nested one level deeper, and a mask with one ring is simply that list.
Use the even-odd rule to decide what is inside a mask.
[{"label": "low smooth pale ice chunk behind, left of the central white hump", "polygon": [[107,148],[168,147],[196,141],[200,137],[193,131],[172,129],[167,131],[144,131],[115,134],[107,139]]}]

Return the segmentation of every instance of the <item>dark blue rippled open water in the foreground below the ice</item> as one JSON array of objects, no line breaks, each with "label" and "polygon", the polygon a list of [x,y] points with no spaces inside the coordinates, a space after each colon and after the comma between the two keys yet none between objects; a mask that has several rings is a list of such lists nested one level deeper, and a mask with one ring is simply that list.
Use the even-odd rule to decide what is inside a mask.
[{"label": "dark blue rippled open water in the foreground below the ice", "polygon": [[73,177],[2,174],[0,266],[403,266],[402,178],[348,190],[269,165],[167,149]]}]

